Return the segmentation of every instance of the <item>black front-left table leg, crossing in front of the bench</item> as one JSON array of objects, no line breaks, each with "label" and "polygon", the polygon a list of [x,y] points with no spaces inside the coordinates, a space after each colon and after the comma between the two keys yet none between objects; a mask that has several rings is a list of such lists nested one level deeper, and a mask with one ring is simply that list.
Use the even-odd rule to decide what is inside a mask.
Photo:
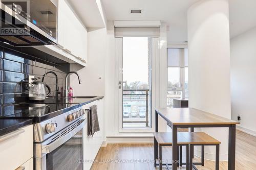
[{"label": "black front-left table leg, crossing in front of the bench", "polygon": [[178,133],[177,133],[177,126],[173,125],[173,147],[172,147],[172,150],[173,150],[173,170],[177,170],[177,167],[178,167],[178,141],[177,141],[177,136],[178,136]]}]

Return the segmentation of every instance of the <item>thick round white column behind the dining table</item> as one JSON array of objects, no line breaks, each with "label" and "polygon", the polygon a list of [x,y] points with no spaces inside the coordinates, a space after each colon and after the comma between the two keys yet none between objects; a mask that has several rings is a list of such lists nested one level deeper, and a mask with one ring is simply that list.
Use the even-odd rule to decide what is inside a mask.
[{"label": "thick round white column behind the dining table", "polygon": [[[187,20],[189,107],[231,118],[228,0],[201,0]],[[203,131],[222,142],[220,160],[227,160],[227,128]],[[215,160],[215,148],[207,147],[205,158]]]}]

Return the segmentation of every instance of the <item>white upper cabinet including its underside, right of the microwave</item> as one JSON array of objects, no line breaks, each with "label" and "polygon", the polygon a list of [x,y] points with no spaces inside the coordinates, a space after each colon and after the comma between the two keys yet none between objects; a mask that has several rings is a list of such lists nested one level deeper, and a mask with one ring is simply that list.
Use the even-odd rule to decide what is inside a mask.
[{"label": "white upper cabinet including its underside, right of the microwave", "polygon": [[33,47],[63,61],[86,66],[87,29],[66,0],[58,1],[57,43]]}]

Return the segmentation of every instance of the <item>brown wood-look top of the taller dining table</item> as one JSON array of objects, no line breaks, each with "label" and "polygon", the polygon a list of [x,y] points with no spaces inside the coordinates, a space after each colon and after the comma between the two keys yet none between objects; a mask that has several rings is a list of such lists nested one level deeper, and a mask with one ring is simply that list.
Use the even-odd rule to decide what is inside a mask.
[{"label": "brown wood-look top of the taller dining table", "polygon": [[157,113],[173,125],[236,125],[237,121],[227,119],[194,108],[155,108]]}]

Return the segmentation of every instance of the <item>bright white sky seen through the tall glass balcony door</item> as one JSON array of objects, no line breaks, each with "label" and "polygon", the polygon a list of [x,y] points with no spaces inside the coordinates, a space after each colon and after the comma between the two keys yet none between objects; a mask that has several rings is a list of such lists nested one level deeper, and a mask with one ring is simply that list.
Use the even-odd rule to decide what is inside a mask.
[{"label": "bright white sky seen through the tall glass balcony door", "polygon": [[148,83],[147,37],[123,37],[123,81]]}]

